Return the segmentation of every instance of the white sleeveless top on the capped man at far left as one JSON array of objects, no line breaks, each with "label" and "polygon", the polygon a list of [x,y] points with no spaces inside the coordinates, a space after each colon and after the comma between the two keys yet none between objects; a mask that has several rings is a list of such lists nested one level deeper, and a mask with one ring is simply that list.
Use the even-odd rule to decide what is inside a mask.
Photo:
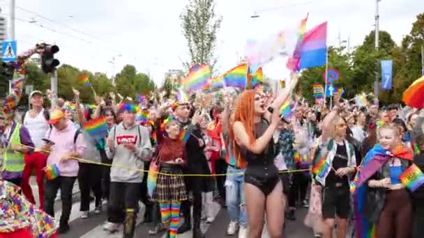
[{"label": "white sleeveless top on the capped man at far left", "polygon": [[49,122],[44,116],[44,109],[35,118],[31,118],[29,111],[27,111],[27,115],[24,118],[24,126],[27,127],[29,136],[31,136],[36,148],[41,148],[45,144],[41,139],[45,138],[47,130],[50,129]]}]

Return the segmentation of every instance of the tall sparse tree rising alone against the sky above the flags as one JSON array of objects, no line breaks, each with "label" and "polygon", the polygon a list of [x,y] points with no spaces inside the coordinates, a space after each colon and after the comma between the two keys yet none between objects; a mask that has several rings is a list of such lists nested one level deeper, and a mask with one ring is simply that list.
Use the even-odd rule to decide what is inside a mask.
[{"label": "tall sparse tree rising alone against the sky above the flags", "polygon": [[214,0],[190,0],[181,14],[181,26],[190,53],[185,68],[200,63],[213,69],[216,63],[213,51],[221,22],[222,17],[215,15]]}]

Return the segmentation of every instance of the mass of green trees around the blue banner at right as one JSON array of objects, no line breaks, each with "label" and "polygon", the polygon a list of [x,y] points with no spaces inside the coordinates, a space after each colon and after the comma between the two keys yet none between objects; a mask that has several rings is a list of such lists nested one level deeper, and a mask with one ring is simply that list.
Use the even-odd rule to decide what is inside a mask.
[{"label": "mass of green trees around the blue banner at right", "polygon": [[[409,35],[405,35],[402,45],[392,40],[390,33],[379,31],[379,49],[374,47],[374,31],[365,36],[362,45],[347,53],[344,47],[328,49],[328,68],[340,71],[338,88],[345,88],[343,97],[352,98],[358,93],[372,93],[374,80],[381,82],[381,60],[393,60],[393,87],[391,90],[379,88],[382,104],[402,101],[402,93],[416,79],[421,77],[421,46],[424,45],[424,13],[417,16]],[[312,85],[324,84],[325,66],[309,68],[301,73],[301,81],[296,88],[312,102]],[[381,87],[381,86],[380,86]]]}]

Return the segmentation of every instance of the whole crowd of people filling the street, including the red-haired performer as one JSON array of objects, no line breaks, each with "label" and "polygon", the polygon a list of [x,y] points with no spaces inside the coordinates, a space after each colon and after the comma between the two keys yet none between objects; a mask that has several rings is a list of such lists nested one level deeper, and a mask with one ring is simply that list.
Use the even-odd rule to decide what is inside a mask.
[{"label": "whole crowd of people filling the street, including the red-haired performer", "polygon": [[[304,223],[315,237],[346,237],[349,226],[356,237],[421,237],[424,188],[411,191],[400,177],[414,165],[424,170],[424,111],[357,105],[340,95],[332,108],[309,106],[291,96],[296,84],[277,96],[259,88],[206,103],[116,102],[112,93],[83,105],[75,91],[73,102],[52,100],[50,109],[50,95],[33,91],[22,118],[13,110],[1,118],[0,207],[9,216],[0,219],[0,237],[68,232],[76,180],[81,219],[93,215],[94,199],[93,213],[107,212],[104,230],[125,238],[135,237],[139,202],[151,235],[192,230],[205,237],[200,225],[213,223],[213,200],[227,209],[227,234],[239,238],[262,237],[264,225],[269,237],[283,237],[299,207],[308,209]],[[287,100],[293,113],[282,118]],[[138,120],[142,111],[149,120]],[[84,127],[99,117],[108,128],[102,140]],[[62,212],[54,221],[59,189]]]}]

